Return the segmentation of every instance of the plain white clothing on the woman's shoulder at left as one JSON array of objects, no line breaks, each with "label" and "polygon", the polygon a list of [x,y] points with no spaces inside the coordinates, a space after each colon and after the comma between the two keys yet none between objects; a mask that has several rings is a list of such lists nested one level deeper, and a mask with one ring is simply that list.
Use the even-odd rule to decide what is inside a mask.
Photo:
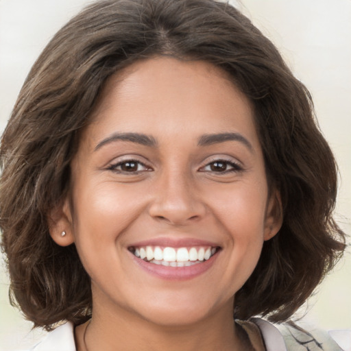
[{"label": "plain white clothing on the woman's shoulder at left", "polygon": [[73,324],[62,324],[29,351],[76,351]]}]

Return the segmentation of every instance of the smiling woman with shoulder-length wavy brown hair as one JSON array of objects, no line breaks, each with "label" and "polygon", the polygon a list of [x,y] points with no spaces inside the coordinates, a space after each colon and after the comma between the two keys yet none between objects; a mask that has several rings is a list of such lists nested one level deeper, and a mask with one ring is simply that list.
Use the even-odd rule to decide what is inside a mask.
[{"label": "smiling woman with shoulder-length wavy brown hair", "polygon": [[91,5],[34,64],[1,162],[14,298],[69,321],[34,350],[339,350],[252,319],[289,319],[345,245],[310,95],[230,5]]}]

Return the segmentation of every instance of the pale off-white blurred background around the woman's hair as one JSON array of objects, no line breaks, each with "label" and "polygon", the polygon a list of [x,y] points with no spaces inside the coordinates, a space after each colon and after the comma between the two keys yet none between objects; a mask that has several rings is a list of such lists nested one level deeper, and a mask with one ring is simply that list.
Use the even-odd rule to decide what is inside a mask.
[{"label": "pale off-white blurred background around the woman's hair", "polygon": [[[89,2],[0,0],[0,130],[40,51]],[[311,90],[319,125],[339,162],[337,219],[350,234],[351,0],[243,0],[235,5],[274,41],[295,75]],[[0,272],[0,315],[0,350],[25,348],[40,336],[29,333],[31,324],[8,303],[4,269]],[[323,328],[351,328],[350,250],[310,300],[305,319]]]}]

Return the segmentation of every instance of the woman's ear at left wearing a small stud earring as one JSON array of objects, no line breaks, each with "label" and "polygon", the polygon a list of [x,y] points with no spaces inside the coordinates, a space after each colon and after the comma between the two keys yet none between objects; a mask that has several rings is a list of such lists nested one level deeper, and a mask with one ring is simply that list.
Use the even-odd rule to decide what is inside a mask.
[{"label": "woman's ear at left wearing a small stud earring", "polygon": [[68,246],[74,242],[72,211],[68,195],[63,202],[50,211],[47,221],[50,236],[58,245]]}]

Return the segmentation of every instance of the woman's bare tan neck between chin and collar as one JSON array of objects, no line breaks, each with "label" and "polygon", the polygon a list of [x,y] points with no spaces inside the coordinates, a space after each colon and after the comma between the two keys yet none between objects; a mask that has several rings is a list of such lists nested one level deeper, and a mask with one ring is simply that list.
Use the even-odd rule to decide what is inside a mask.
[{"label": "woman's bare tan neck between chin and collar", "polygon": [[75,330],[78,351],[250,350],[232,313],[217,311],[192,324],[159,325],[125,313],[100,313]]}]

